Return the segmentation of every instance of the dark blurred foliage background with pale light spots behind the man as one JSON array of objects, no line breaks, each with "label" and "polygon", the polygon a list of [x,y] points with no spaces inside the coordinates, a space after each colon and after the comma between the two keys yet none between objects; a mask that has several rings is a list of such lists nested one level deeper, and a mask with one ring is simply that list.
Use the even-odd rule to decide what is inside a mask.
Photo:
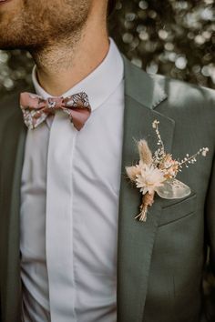
[{"label": "dark blurred foliage background with pale light spots behind the man", "polygon": [[[110,35],[148,73],[215,88],[214,0],[117,1]],[[0,96],[31,82],[31,56],[0,50]]]}]

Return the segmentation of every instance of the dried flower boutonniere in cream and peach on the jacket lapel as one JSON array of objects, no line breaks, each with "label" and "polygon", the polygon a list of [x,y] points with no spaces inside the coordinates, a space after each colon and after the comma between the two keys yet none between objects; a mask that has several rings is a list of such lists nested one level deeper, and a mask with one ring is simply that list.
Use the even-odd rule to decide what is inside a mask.
[{"label": "dried flower boutonniere in cream and peach on the jacket lapel", "polygon": [[136,184],[142,193],[140,213],[135,218],[147,220],[148,206],[154,203],[155,194],[165,199],[178,199],[189,196],[189,186],[178,179],[177,174],[183,166],[189,167],[197,161],[197,156],[206,156],[208,147],[202,147],[193,156],[187,154],[182,160],[175,160],[165,152],[165,146],[159,134],[159,121],[155,120],[152,127],[158,136],[158,149],[154,154],[150,151],[146,140],[138,141],[139,162],[136,166],[127,166],[129,179]]}]

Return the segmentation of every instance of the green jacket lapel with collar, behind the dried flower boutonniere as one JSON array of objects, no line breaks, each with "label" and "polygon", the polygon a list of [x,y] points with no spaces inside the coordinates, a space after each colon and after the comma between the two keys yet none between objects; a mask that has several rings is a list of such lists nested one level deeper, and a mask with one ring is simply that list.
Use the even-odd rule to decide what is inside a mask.
[{"label": "green jacket lapel with collar, behind the dried flower boutonniere", "polygon": [[150,261],[161,213],[161,199],[156,196],[156,202],[149,209],[146,223],[135,220],[141,195],[128,181],[125,166],[138,162],[135,140],[145,138],[153,151],[157,148],[157,137],[151,126],[155,119],[160,121],[160,132],[165,147],[170,152],[174,121],[153,110],[167,97],[159,84],[131,65],[125,57],[124,64],[124,141],[118,214],[118,322],[140,322],[143,319]]}]

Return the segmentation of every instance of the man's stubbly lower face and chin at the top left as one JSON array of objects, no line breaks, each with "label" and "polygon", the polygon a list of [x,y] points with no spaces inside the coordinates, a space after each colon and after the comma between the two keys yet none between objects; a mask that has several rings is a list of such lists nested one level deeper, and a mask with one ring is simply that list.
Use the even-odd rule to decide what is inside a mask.
[{"label": "man's stubbly lower face and chin at the top left", "polygon": [[77,35],[87,20],[90,1],[54,2],[17,0],[10,10],[0,9],[0,49],[36,52]]}]

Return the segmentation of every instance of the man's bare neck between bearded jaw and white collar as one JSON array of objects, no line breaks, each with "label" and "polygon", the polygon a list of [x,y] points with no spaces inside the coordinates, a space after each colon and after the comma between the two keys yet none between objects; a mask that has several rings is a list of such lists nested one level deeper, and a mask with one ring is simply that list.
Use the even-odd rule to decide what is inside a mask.
[{"label": "man's bare neck between bearded jaw and white collar", "polygon": [[32,53],[40,86],[50,96],[61,96],[89,75],[108,52],[107,28],[97,30],[97,21],[88,21],[76,35]]}]

